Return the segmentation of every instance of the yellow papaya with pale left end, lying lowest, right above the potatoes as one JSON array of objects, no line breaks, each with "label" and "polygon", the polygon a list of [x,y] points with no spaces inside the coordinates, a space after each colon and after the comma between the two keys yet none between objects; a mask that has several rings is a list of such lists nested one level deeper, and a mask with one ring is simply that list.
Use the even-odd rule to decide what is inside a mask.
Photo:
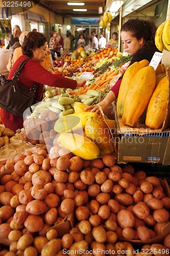
[{"label": "yellow papaya with pale left end, lying lowest, right above the potatoes", "polygon": [[76,133],[61,133],[57,143],[85,160],[93,160],[100,155],[99,147],[93,141]]}]

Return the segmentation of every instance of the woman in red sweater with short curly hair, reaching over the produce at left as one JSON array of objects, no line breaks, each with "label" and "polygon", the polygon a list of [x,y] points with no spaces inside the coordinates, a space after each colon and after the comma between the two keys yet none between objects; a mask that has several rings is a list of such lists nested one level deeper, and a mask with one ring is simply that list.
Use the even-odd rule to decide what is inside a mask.
[{"label": "woman in red sweater with short curly hair, reaching over the produce at left", "polygon": [[[45,70],[40,63],[44,61],[46,54],[46,37],[39,32],[30,32],[25,37],[22,46],[22,56],[20,56],[14,63],[8,78],[12,79],[15,71],[20,63],[27,58],[30,60],[26,63],[25,67],[19,76],[18,82],[27,88],[31,88],[35,82],[38,83],[36,90],[36,98],[40,100],[43,92],[43,84],[51,87],[70,88],[82,87],[86,80],[80,79],[79,81],[72,80],[63,76],[55,75]],[[0,116],[5,127],[16,131],[23,127],[23,119],[5,110],[1,110]]]}]

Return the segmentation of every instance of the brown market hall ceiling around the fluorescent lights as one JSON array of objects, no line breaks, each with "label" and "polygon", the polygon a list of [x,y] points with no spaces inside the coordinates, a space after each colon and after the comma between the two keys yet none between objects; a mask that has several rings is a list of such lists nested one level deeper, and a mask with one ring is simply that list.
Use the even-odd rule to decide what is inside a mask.
[{"label": "brown market hall ceiling around the fluorescent lights", "polygon": [[[99,7],[102,7],[104,10],[106,5],[106,0],[40,0],[38,2],[46,8],[52,8],[56,13],[63,17],[100,17]],[[84,3],[84,6],[69,6],[67,5],[68,2]],[[73,9],[87,9],[87,11],[73,11]]]}]

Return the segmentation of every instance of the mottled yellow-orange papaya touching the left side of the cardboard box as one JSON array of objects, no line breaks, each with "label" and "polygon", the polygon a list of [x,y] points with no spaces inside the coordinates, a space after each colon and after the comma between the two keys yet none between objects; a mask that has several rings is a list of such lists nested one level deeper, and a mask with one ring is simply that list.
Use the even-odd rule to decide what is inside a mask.
[{"label": "mottled yellow-orange papaya touching the left side of the cardboard box", "polygon": [[99,117],[90,117],[85,124],[86,137],[96,143],[100,157],[112,154],[114,145],[107,124]]}]

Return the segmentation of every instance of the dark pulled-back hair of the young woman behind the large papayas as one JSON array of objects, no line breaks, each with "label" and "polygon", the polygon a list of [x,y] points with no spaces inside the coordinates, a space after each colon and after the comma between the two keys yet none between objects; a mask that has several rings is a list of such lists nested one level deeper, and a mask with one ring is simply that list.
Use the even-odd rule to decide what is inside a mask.
[{"label": "dark pulled-back hair of the young woman behind the large papayas", "polygon": [[149,49],[151,44],[155,44],[156,26],[151,20],[129,19],[122,25],[120,32],[122,31],[131,32],[132,36],[138,40],[143,37],[145,40],[144,48]]}]

